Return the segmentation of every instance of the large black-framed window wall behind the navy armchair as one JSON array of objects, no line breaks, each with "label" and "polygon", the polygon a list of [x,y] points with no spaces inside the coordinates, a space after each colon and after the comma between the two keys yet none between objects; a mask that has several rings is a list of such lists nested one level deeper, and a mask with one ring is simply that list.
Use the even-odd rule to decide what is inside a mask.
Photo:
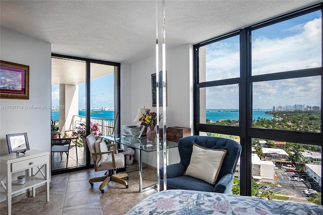
[{"label": "large black-framed window wall behind the navy armchair", "polygon": [[194,133],[241,144],[235,194],[321,204],[321,7],[194,45]]}]

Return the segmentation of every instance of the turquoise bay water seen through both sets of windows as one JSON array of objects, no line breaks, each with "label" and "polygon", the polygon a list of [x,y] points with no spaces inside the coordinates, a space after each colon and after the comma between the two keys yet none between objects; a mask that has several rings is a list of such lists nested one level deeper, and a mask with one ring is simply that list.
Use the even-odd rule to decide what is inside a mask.
[{"label": "turquoise bay water seen through both sets of windows", "polygon": [[[252,119],[273,119],[272,115],[267,115],[264,112],[271,110],[253,110]],[[60,112],[51,112],[52,120],[59,120]],[[79,111],[80,116],[85,116],[85,111]],[[114,119],[114,111],[91,111],[91,117],[96,118],[105,118],[105,119]],[[220,109],[207,109],[206,110],[206,119],[211,120],[212,122],[217,122],[219,120],[239,120],[239,112],[237,110],[220,110]]]}]

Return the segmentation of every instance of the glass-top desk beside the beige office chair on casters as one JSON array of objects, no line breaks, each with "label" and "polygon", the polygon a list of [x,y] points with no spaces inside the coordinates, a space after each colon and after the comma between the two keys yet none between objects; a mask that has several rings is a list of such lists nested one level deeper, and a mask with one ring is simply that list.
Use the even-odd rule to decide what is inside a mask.
[{"label": "glass-top desk beside the beige office chair on casters", "polygon": [[[152,152],[157,151],[157,144],[156,140],[149,141],[147,138],[139,139],[138,136],[133,137],[129,134],[115,134],[115,135],[107,135],[101,136],[104,139],[114,141],[116,143],[120,143],[122,145],[126,145],[128,147],[138,149],[138,156],[139,156],[139,192],[143,192],[149,190],[151,188],[156,187],[156,185],[151,185],[149,187],[142,188],[142,157],[141,151]],[[168,156],[168,149],[177,147],[176,142],[167,141],[167,156]],[[159,150],[163,150],[163,142],[159,142]],[[157,158],[159,159],[159,158]],[[158,162],[158,161],[157,161]],[[157,170],[159,171],[159,170]],[[158,176],[157,176],[158,177]],[[157,180],[158,182],[159,180]]]}]

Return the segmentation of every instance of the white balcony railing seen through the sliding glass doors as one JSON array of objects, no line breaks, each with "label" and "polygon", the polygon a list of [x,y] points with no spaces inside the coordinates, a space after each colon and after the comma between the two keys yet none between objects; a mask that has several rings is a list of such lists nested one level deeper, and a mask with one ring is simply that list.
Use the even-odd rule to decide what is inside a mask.
[{"label": "white balcony railing seen through the sliding glass doors", "polygon": [[[85,116],[73,115],[70,130],[75,130],[80,123],[85,124]],[[99,133],[102,135],[112,135],[114,132],[114,119],[90,117],[90,122],[97,124]]]}]

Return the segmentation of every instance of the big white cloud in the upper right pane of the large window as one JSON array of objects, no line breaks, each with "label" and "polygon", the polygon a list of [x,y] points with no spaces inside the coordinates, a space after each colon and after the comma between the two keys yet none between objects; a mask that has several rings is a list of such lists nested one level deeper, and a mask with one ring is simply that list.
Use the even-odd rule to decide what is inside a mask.
[{"label": "big white cloud in the upper right pane of the large window", "polygon": [[284,72],[321,66],[321,19],[303,25],[300,34],[283,39],[252,41],[252,74]]}]

